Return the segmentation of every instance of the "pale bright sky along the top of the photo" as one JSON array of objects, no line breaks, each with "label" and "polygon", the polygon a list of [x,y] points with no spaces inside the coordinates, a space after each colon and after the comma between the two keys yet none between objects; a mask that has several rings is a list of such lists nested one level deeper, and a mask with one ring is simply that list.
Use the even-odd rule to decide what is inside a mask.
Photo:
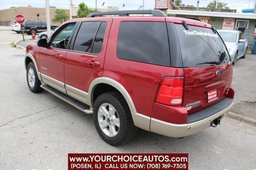
[{"label": "pale bright sky along the top of the photo", "polygon": [[[108,6],[118,6],[119,10],[136,10],[142,5],[142,0],[72,0],[74,6],[84,2],[90,8],[95,8],[97,1],[97,8],[108,8]],[[206,7],[209,2],[213,0],[200,0],[199,7]],[[69,0],[49,0],[50,6],[57,8],[69,9]],[[104,6],[102,6],[105,2]],[[228,4],[230,9],[236,9],[241,12],[242,9],[254,8],[256,0],[218,0]],[[155,0],[144,0],[145,10],[154,9]],[[123,8],[123,4],[125,4]],[[182,0],[182,4],[190,4],[196,6],[197,0]],[[0,0],[0,10],[10,8],[11,6],[28,6],[32,7],[45,7],[45,0]]]}]

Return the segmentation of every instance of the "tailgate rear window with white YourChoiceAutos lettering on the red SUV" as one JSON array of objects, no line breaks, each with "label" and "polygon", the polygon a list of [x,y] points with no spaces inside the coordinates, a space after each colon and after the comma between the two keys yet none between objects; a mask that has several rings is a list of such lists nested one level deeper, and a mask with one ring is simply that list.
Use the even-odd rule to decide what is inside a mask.
[{"label": "tailgate rear window with white YourChoiceAutos lettering on the red SUV", "polygon": [[[176,24],[180,42],[183,67],[208,67],[212,63],[230,62],[228,51],[218,34],[209,28],[188,26],[188,30],[181,24]],[[205,64],[203,64],[205,63]]]}]

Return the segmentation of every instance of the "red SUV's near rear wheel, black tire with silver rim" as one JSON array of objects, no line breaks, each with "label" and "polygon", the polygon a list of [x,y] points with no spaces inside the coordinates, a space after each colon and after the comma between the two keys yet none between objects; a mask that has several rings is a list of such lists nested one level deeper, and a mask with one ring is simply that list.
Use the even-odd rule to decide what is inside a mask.
[{"label": "red SUV's near rear wheel, black tire with silver rim", "polygon": [[[106,105],[108,105],[108,107]],[[111,113],[106,114],[106,117],[104,116],[105,112],[104,114],[101,114],[102,111],[99,110],[103,110],[102,108],[104,108],[104,106],[106,111],[109,111],[110,107],[115,109],[116,112],[112,112],[114,113],[112,114],[112,117],[109,116],[111,115]],[[137,134],[138,129],[134,126],[128,104],[126,103],[124,97],[118,92],[108,92],[101,94],[94,103],[93,117],[98,134],[105,142],[112,146],[118,146],[120,144],[130,142]],[[120,128],[115,125],[118,125],[118,123],[114,123],[117,121],[113,121],[117,120],[117,118],[119,120]],[[102,119],[102,121],[104,122],[101,125],[99,123],[100,119]],[[104,129],[103,127],[101,127],[104,126],[103,124],[106,124],[106,128]],[[113,126],[115,132],[118,131],[115,135],[114,130],[113,133],[110,133],[109,130],[110,127]],[[109,135],[107,134],[107,131],[109,131]]]}]

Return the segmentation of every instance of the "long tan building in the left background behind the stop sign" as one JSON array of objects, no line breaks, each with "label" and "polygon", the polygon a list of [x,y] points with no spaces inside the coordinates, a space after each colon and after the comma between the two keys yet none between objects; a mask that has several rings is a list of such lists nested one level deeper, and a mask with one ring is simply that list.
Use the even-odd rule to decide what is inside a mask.
[{"label": "long tan building in the left background behind the stop sign", "polygon": [[[60,25],[60,23],[52,22],[54,18],[56,8],[50,8],[50,19],[51,24]],[[66,10],[66,9],[64,9]],[[69,15],[69,10],[66,10],[66,13]],[[46,10],[45,8],[35,8],[35,7],[14,7],[5,10],[0,10],[0,25],[1,26],[10,26],[15,20],[17,14],[22,14],[26,20],[38,20],[37,14],[39,15],[39,20],[46,20]]]}]

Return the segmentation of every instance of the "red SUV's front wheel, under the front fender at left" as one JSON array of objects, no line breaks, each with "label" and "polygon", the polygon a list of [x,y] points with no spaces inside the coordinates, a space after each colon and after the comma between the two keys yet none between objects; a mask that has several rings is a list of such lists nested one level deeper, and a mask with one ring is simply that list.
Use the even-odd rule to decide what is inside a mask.
[{"label": "red SUV's front wheel, under the front fender at left", "polygon": [[32,91],[33,93],[42,92],[44,89],[40,87],[41,82],[38,79],[35,65],[32,62],[28,63],[26,70],[27,70],[27,83],[30,91]]}]

